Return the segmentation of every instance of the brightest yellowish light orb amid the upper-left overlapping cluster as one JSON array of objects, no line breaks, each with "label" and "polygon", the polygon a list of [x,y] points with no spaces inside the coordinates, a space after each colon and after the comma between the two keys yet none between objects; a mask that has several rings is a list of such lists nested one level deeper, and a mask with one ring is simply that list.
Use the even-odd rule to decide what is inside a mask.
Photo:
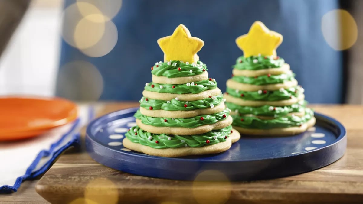
[{"label": "brightest yellowish light orb amid the upper-left overlapping cluster", "polygon": [[74,43],[78,49],[86,49],[101,40],[105,33],[105,23],[91,21],[89,19],[103,19],[102,14],[91,14],[89,18],[81,19],[74,29]]}]

